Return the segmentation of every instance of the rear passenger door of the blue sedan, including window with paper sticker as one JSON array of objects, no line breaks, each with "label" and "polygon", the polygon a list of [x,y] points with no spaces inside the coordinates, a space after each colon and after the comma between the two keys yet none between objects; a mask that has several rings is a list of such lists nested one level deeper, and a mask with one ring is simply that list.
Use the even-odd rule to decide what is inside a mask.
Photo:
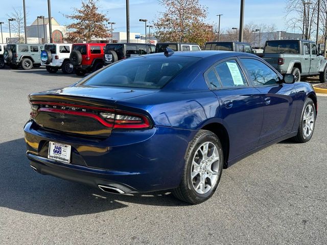
[{"label": "rear passenger door of the blue sedan, including window with paper sticker", "polygon": [[217,116],[229,135],[229,159],[258,146],[264,103],[258,90],[249,86],[236,58],[223,60],[205,72],[209,88],[217,95]]}]

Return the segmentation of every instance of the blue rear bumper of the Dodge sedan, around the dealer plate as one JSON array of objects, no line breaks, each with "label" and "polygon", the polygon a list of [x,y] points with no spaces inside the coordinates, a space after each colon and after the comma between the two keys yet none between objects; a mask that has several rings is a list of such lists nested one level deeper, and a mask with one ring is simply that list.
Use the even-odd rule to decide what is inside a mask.
[{"label": "blue rear bumper of the Dodge sedan, around the dealer plate", "polygon": [[[175,188],[184,169],[184,155],[195,131],[167,127],[115,132],[104,140],[72,137],[24,128],[27,157],[37,171],[98,187],[110,185],[124,192]],[[71,163],[48,159],[49,141],[72,145]]]}]

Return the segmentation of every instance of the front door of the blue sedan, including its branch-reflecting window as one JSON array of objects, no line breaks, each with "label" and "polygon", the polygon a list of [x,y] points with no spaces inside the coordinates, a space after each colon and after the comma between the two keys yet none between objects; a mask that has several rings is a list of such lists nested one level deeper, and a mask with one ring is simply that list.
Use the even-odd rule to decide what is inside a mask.
[{"label": "front door of the blue sedan, including its branch-reflecting window", "polygon": [[244,57],[241,62],[265,103],[259,145],[290,133],[296,111],[293,103],[296,99],[294,84],[281,83],[282,77],[259,59]]}]

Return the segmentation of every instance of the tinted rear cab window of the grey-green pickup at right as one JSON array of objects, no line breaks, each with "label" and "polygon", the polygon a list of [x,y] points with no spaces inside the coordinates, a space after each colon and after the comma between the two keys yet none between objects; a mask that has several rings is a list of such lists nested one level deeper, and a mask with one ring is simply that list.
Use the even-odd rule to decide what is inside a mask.
[{"label": "tinted rear cab window of the grey-green pickup at right", "polygon": [[297,41],[266,42],[264,53],[268,54],[298,54]]}]

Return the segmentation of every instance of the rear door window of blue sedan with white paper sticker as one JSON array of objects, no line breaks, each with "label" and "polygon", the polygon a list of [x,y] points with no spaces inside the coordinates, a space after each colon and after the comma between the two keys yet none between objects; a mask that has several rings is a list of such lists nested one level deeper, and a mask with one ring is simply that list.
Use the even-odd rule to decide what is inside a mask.
[{"label": "rear door window of blue sedan with white paper sticker", "polygon": [[222,87],[246,86],[243,72],[236,60],[228,60],[215,66]]}]

